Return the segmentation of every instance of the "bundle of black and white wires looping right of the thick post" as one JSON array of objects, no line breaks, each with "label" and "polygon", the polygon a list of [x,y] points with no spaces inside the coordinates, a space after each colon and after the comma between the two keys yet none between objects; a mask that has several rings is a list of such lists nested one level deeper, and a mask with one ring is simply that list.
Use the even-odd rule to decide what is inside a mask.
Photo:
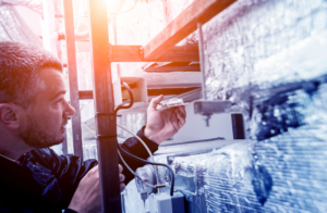
[{"label": "bundle of black and white wires looping right of the thick post", "polygon": [[[124,82],[122,82],[122,84],[123,84],[123,86],[126,88],[126,90],[129,91],[129,95],[130,95],[130,97],[131,97],[131,101],[130,101],[130,104],[129,104],[129,105],[123,105],[123,104],[119,105],[119,106],[114,110],[114,113],[116,113],[116,114],[117,114],[117,112],[118,112],[119,110],[121,110],[121,109],[130,109],[130,108],[133,105],[133,103],[134,103],[134,97],[133,97],[133,92],[132,92],[130,86],[129,86],[126,83],[124,83]],[[124,130],[128,130],[126,128],[124,128],[124,127],[122,127],[122,126],[120,126],[120,125],[118,125],[118,126],[121,127],[121,128],[123,128]],[[131,133],[130,130],[128,130],[128,131]],[[152,160],[154,161],[153,154],[152,154],[150,150],[148,149],[148,147],[146,146],[146,143],[145,143],[137,135],[135,135],[135,134],[133,134],[133,133],[131,133],[131,134],[134,135],[134,136],[137,138],[137,140],[144,146],[144,148],[146,149],[146,151],[147,151],[147,152],[149,153],[149,155],[152,156]],[[137,156],[135,156],[135,155],[133,155],[133,154],[126,152],[125,150],[123,150],[123,149],[119,146],[118,142],[117,142],[117,148],[118,148],[118,154],[119,154],[121,161],[123,162],[123,164],[128,167],[128,170],[129,170],[136,178],[141,179],[143,183],[145,183],[146,185],[148,185],[148,186],[150,186],[150,187],[157,188],[156,186],[150,185],[150,184],[144,181],[141,177],[138,177],[138,176],[134,173],[134,171],[126,164],[126,162],[125,162],[124,159],[122,158],[121,153],[124,154],[124,155],[126,155],[126,156],[130,158],[130,159],[133,159],[133,160],[140,162],[140,163],[145,163],[145,164],[150,164],[150,165],[157,165],[157,166],[165,166],[165,167],[167,167],[168,171],[169,171],[169,173],[170,173],[170,179],[171,179],[171,184],[170,184],[170,196],[173,196],[174,174],[173,174],[173,171],[171,170],[171,167],[170,167],[169,165],[164,164],[164,163],[149,162],[149,161],[140,159],[140,158],[137,158]],[[158,177],[158,174],[157,174],[157,173],[156,173],[156,176]]]}]

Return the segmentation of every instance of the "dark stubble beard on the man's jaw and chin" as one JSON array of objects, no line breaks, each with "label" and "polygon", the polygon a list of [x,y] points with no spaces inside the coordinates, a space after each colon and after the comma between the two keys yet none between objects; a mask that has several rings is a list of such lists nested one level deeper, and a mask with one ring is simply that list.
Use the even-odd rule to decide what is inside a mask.
[{"label": "dark stubble beard on the man's jaw and chin", "polygon": [[25,143],[33,148],[49,148],[63,142],[63,139],[56,139],[59,131],[50,135],[43,130],[43,127],[32,116],[28,116],[27,129],[20,134]]}]

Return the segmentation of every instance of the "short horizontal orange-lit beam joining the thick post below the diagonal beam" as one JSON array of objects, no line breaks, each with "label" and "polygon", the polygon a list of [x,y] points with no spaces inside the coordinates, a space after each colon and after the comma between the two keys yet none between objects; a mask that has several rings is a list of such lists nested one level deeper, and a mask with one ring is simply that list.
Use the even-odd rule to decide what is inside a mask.
[{"label": "short horizontal orange-lit beam joining the thick post below the diagonal beam", "polygon": [[177,46],[161,57],[143,59],[142,46],[109,46],[112,62],[198,62],[197,46]]}]

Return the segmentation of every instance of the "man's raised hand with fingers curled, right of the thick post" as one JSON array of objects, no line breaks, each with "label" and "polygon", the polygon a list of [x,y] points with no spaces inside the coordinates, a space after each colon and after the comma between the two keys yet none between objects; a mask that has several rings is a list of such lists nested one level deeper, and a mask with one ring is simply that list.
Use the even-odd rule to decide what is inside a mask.
[{"label": "man's raised hand with fingers curled, right of the thick post", "polygon": [[184,126],[186,117],[184,105],[158,111],[157,105],[162,99],[161,95],[152,100],[147,109],[147,125],[144,129],[145,137],[158,145],[177,134]]}]

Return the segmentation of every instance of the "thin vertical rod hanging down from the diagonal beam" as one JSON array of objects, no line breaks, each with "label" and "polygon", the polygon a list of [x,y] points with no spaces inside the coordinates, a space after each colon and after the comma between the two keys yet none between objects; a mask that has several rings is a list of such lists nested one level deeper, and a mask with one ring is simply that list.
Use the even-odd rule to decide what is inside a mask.
[{"label": "thin vertical rod hanging down from the diagonal beam", "polygon": [[204,42],[203,42],[203,33],[202,33],[202,23],[197,23],[198,29],[198,54],[199,54],[199,68],[201,68],[201,84],[202,84],[202,98],[203,100],[207,100],[207,92],[206,92],[206,74],[205,74],[205,66],[204,66]]}]

